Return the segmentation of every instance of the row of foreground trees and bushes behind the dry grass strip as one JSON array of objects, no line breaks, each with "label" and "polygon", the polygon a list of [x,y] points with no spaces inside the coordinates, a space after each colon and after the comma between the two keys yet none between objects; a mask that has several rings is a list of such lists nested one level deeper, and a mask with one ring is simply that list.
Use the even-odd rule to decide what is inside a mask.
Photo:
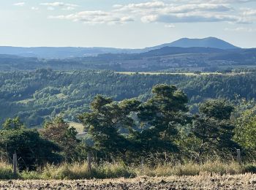
[{"label": "row of foreground trees and bushes behind the dry grass strip", "polygon": [[138,164],[230,161],[241,149],[243,161],[256,153],[255,102],[209,99],[191,114],[189,99],[176,86],[154,86],[145,102],[119,102],[97,95],[90,110],[79,115],[86,138],[60,117],[40,130],[27,129],[19,118],[8,118],[0,130],[0,156],[17,153],[20,170],[36,170],[45,164],[83,161],[91,153],[95,162],[122,161]]}]

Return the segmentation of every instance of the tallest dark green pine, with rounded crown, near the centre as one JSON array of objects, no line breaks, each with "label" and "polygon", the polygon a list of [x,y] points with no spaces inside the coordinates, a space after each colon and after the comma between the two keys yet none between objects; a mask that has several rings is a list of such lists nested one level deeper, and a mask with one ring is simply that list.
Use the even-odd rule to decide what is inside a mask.
[{"label": "tallest dark green pine, with rounded crown, near the centre", "polygon": [[153,96],[141,104],[138,113],[143,127],[135,136],[139,151],[144,155],[177,152],[177,127],[188,121],[187,96],[176,86],[165,84],[154,86],[152,93]]}]

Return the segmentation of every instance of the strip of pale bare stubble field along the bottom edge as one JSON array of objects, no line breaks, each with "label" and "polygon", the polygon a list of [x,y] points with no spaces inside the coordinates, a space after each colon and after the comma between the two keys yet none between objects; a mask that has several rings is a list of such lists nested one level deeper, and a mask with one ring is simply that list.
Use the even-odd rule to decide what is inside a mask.
[{"label": "strip of pale bare stubble field along the bottom edge", "polygon": [[108,180],[3,180],[0,189],[256,189],[256,175],[207,175]]}]

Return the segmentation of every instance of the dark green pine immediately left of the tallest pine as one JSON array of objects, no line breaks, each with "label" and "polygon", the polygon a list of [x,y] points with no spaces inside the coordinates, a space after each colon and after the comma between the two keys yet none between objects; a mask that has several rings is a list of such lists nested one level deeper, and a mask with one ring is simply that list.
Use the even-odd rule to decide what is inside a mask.
[{"label": "dark green pine immediately left of the tallest pine", "polygon": [[96,96],[91,102],[91,112],[79,117],[94,141],[91,148],[102,156],[112,158],[124,156],[127,151],[131,151],[131,143],[121,134],[121,129],[132,129],[134,121],[130,113],[138,110],[139,105],[136,99],[113,102],[108,97]]}]

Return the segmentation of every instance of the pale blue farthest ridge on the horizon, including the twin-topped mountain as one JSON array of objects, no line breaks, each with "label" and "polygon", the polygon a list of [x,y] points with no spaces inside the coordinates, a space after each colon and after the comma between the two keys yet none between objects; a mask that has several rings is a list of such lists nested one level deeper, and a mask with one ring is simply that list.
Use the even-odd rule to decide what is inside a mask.
[{"label": "pale blue farthest ridge on the horizon, including the twin-topped mountain", "polygon": [[105,53],[146,53],[162,47],[211,47],[222,50],[238,49],[222,39],[208,37],[204,39],[182,38],[175,42],[146,47],[143,49],[120,49],[112,47],[10,47],[0,46],[0,54],[37,57],[37,58],[74,58],[97,56]]}]

